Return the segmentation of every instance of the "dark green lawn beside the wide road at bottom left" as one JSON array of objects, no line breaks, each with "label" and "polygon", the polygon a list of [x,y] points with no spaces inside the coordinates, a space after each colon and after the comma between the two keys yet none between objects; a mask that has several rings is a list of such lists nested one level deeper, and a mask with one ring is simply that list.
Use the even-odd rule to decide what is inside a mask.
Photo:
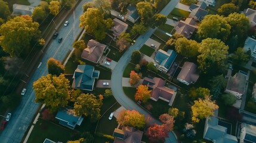
[{"label": "dark green lawn beside the wide road at bottom left", "polygon": [[71,129],[66,129],[46,120],[38,119],[27,142],[44,142],[45,138],[55,142],[67,142],[72,138],[72,133],[73,130]]}]

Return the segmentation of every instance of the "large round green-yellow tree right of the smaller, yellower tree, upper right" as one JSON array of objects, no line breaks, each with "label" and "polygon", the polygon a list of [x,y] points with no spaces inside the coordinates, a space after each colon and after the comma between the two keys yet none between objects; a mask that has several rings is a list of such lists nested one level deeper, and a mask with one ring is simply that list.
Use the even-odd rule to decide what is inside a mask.
[{"label": "large round green-yellow tree right of the smaller, yellower tree, upper right", "polygon": [[224,42],[219,39],[207,38],[201,42],[198,55],[199,69],[204,73],[207,73],[215,66],[222,66],[222,63],[227,58],[227,50],[229,46],[226,46]]}]

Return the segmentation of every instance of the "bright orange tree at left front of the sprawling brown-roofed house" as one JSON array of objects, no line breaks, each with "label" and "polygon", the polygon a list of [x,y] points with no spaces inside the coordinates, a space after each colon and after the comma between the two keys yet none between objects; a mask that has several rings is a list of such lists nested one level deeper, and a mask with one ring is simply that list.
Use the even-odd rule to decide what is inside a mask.
[{"label": "bright orange tree at left front of the sprawling brown-roofed house", "polygon": [[146,85],[139,85],[137,87],[137,92],[134,95],[135,100],[140,100],[142,102],[147,102],[150,98],[151,90],[149,91],[149,87]]}]

